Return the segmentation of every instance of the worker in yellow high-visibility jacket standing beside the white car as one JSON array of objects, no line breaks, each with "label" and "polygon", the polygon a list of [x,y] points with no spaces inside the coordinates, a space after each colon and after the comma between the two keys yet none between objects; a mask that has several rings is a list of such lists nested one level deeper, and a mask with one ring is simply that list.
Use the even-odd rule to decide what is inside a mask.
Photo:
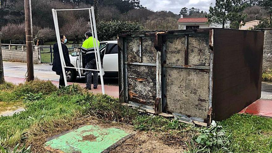
[{"label": "worker in yellow high-visibility jacket standing beside the white car", "polygon": [[[98,86],[98,71],[94,71],[97,70],[97,66],[96,66],[96,55],[95,55],[95,47],[96,45],[94,43],[96,43],[96,39],[92,37],[92,33],[91,32],[86,32],[85,33],[85,37],[86,40],[83,42],[82,46],[81,46],[81,53],[84,57],[84,61],[85,61],[85,68],[86,69],[93,69],[93,70],[86,70],[86,89],[91,90],[91,74],[93,74],[94,76],[94,81],[93,81],[93,88],[97,89]],[[99,46],[99,41],[98,42],[98,46]],[[98,51],[99,53],[99,51]],[[98,56],[100,56],[100,54],[98,54]]]}]

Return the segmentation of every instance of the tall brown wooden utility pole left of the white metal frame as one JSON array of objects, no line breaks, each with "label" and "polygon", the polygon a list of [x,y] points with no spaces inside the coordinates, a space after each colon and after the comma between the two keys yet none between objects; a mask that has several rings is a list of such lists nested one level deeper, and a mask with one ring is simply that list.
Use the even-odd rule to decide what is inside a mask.
[{"label": "tall brown wooden utility pole left of the white metal frame", "polygon": [[27,81],[34,80],[34,66],[33,66],[33,38],[32,38],[32,12],[31,0],[24,0],[25,12],[25,31],[26,31],[26,47],[27,47]]}]

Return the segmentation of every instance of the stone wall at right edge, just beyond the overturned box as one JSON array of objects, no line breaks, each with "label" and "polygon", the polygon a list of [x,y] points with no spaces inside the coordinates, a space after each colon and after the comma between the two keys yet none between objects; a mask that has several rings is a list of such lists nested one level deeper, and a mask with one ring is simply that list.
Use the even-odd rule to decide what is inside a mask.
[{"label": "stone wall at right edge, just beyond the overturned box", "polygon": [[264,52],[262,70],[272,70],[272,29],[266,29],[264,35]]}]

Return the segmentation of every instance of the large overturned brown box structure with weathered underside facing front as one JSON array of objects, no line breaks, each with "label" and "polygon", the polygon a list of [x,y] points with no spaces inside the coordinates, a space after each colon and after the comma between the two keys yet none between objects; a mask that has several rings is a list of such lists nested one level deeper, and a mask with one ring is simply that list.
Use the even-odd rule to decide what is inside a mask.
[{"label": "large overturned brown box structure with weathered underside facing front", "polygon": [[264,32],[210,28],[118,38],[121,103],[209,125],[261,97]]}]

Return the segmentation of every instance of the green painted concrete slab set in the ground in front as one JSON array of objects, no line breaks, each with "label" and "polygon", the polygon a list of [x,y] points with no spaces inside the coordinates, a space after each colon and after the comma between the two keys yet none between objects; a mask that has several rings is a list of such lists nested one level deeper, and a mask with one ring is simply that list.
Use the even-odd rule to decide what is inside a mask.
[{"label": "green painted concrete slab set in the ground in front", "polygon": [[45,143],[65,153],[100,153],[128,134],[120,129],[86,125]]}]

